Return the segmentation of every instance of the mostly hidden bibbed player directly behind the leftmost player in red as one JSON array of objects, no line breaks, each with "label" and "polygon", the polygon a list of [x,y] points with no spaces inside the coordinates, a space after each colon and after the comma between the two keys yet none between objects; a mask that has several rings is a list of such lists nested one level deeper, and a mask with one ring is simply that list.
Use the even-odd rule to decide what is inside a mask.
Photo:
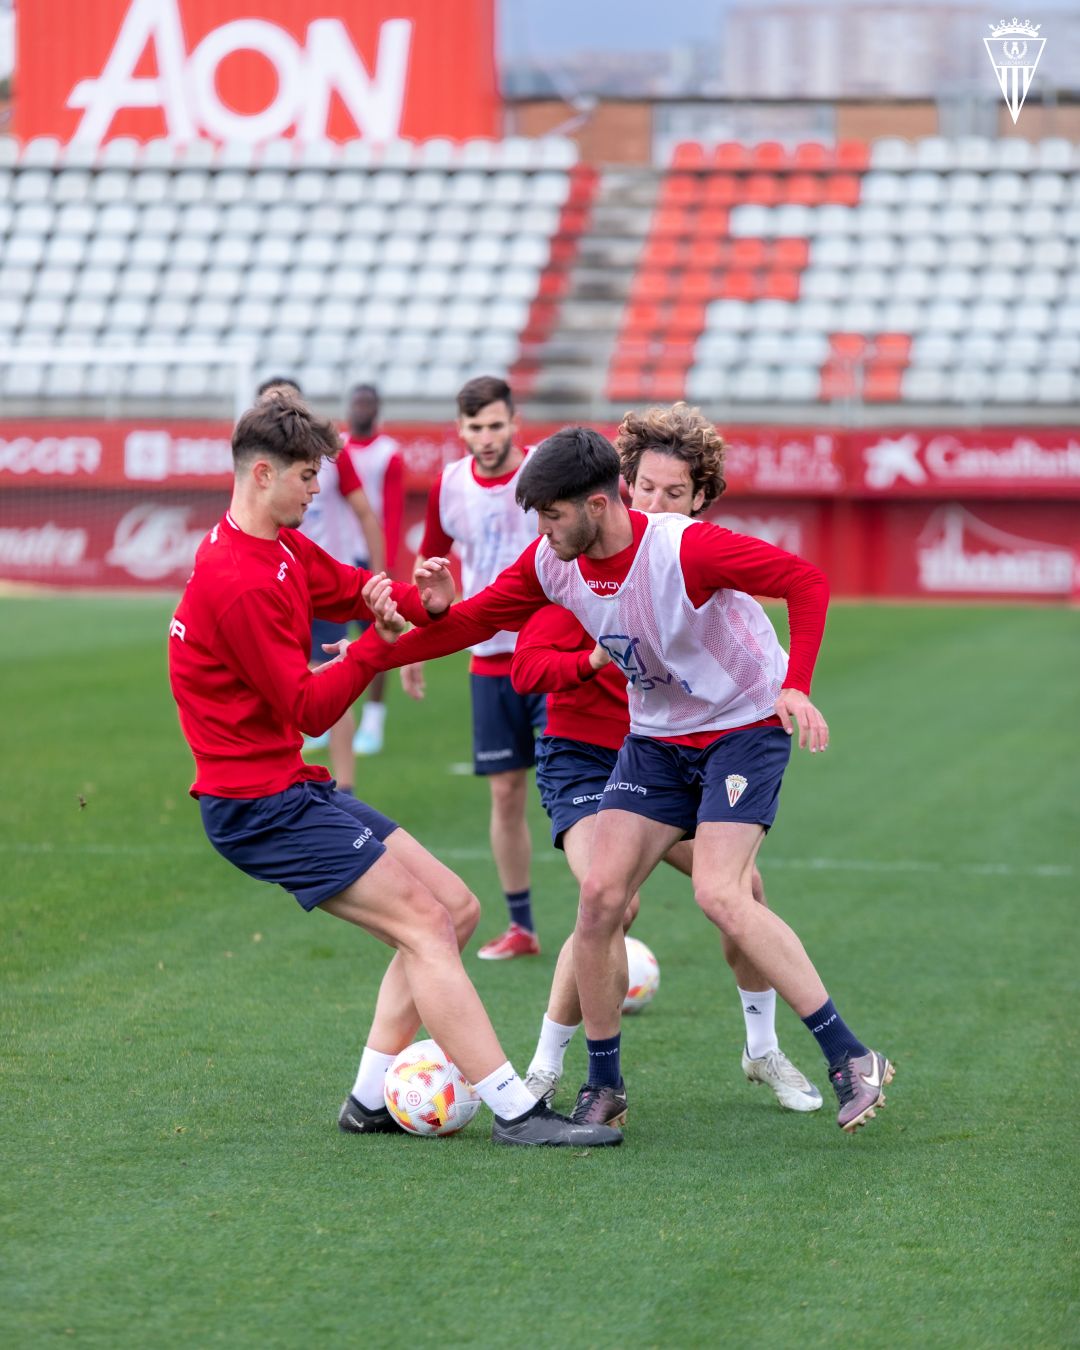
[{"label": "mostly hidden bibbed player directly behind the leftmost player in red", "polygon": [[[277,375],[265,379],[258,389],[262,398],[271,390],[285,390],[302,398],[300,385],[288,377]],[[383,570],[382,526],[371,508],[364,486],[350,459],[338,455],[324,459],[319,467],[319,494],[312,501],[304,517],[301,529],[320,548],[339,563],[363,563],[371,571]],[[347,624],[333,624],[329,620],[312,620],[310,664],[315,668],[327,660],[324,644],[332,644],[346,637]],[[383,680],[385,675],[381,676]],[[304,751],[313,752],[329,747],[329,763],[333,779],[340,792],[352,791],[355,772],[352,759],[352,709],[346,709],[339,721],[323,736],[309,736]]]}]

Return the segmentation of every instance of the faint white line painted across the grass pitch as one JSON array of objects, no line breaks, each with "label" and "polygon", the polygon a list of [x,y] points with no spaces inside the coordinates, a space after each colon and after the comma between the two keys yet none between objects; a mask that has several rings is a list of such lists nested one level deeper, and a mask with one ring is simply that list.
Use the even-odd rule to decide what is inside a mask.
[{"label": "faint white line painted across the grass pitch", "polygon": [[[423,841],[421,841],[423,842]],[[202,844],[30,844],[27,841],[0,841],[0,853],[80,855],[89,857],[165,857],[177,853],[205,853]],[[491,852],[485,848],[439,849],[437,856],[447,863],[490,863]],[[558,863],[562,855],[544,850],[533,856],[535,863]],[[792,872],[869,872],[959,875],[959,876],[1017,876],[1017,878],[1072,878],[1076,868],[1068,863],[1035,863],[1017,867],[1013,863],[929,863],[914,857],[873,860],[855,857],[764,857],[765,872],[783,868]]]}]

